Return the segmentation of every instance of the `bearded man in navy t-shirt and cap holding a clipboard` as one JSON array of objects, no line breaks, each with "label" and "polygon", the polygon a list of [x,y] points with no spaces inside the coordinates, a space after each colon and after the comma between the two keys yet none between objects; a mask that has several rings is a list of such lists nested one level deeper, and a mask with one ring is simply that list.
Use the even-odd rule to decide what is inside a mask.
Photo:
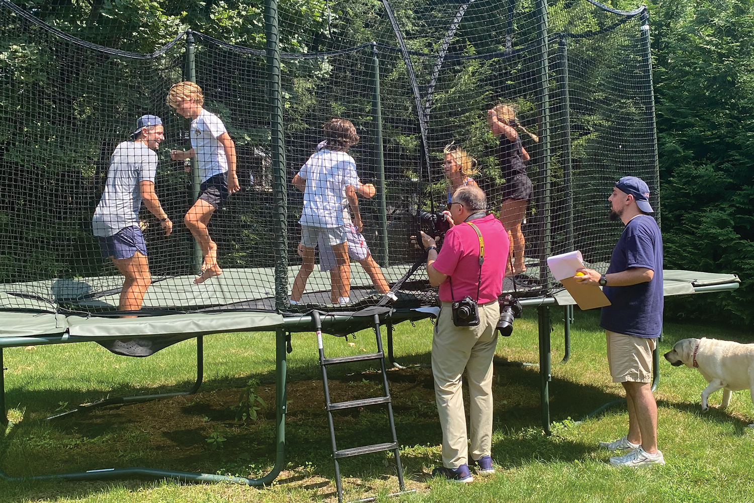
[{"label": "bearded man in navy t-shirt and cap holding a clipboard", "polygon": [[615,183],[610,219],[626,225],[605,274],[581,269],[582,284],[599,284],[611,305],[602,308],[599,325],[607,333],[608,365],[613,382],[626,390],[628,434],[599,445],[627,452],[610,458],[614,466],[664,465],[657,449],[657,402],[651,391],[652,352],[662,331],[663,250],[657,222],[649,215],[649,188],[636,176]]}]

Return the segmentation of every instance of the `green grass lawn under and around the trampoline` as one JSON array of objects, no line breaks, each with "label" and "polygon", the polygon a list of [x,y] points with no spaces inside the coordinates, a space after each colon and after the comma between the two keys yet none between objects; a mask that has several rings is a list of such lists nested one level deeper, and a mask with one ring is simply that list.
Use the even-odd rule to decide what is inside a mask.
[{"label": "green grass lawn under and around the trampoline", "polygon": [[[553,309],[553,434],[543,434],[539,409],[538,336],[534,308],[516,320],[513,336],[498,342],[495,363],[495,430],[492,457],[498,471],[454,484],[428,477],[440,464],[440,426],[430,363],[431,323],[401,324],[397,360],[389,370],[406,484],[414,494],[389,501],[754,501],[754,407],[749,393],[734,394],[726,411],[716,409],[722,391],[700,409],[702,376],[661,360],[659,443],[667,465],[615,469],[599,440],[627,431],[625,406],[584,419],[603,403],[623,396],[610,382],[605,336],[596,313],[577,311],[572,357],[563,354],[562,310]],[[687,337],[750,342],[748,333],[720,327],[668,323],[660,351]],[[204,502],[337,501],[329,432],[312,333],[293,334],[288,358],[287,465],[267,488],[229,483],[182,484],[155,480],[61,482],[0,481],[0,502]],[[48,421],[46,416],[78,403],[189,388],[195,379],[195,342],[152,357],[109,353],[94,343],[5,349],[6,403],[14,423],[0,443],[0,468],[13,476],[146,466],[260,477],[274,463],[274,334],[220,334],[204,338],[205,382],[198,394],[151,403],[110,406]],[[371,330],[348,340],[326,336],[329,356],[374,351]],[[522,364],[523,363],[523,364]],[[370,367],[371,366],[371,367]],[[333,400],[379,394],[374,363],[331,367]],[[231,407],[248,382],[267,403],[259,419],[236,420]],[[336,416],[339,448],[388,441],[384,407]],[[213,438],[222,438],[214,443]],[[215,447],[216,448],[213,448]],[[345,459],[346,500],[397,490],[391,454]]]}]

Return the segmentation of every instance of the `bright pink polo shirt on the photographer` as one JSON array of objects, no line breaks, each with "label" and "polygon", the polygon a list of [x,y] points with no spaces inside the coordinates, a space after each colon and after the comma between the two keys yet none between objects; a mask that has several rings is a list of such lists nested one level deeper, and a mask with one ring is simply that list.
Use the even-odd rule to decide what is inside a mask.
[{"label": "bright pink polo shirt on the photographer", "polygon": [[[505,262],[510,246],[507,232],[494,215],[471,220],[477,225],[484,239],[484,264],[479,289],[479,303],[486,304],[497,299],[503,291]],[[440,284],[440,300],[450,302],[464,296],[477,299],[479,282],[479,238],[474,228],[467,223],[454,225],[446,233],[443,247],[437,260],[433,262],[437,271],[453,279],[453,295],[450,295],[450,281]]]}]

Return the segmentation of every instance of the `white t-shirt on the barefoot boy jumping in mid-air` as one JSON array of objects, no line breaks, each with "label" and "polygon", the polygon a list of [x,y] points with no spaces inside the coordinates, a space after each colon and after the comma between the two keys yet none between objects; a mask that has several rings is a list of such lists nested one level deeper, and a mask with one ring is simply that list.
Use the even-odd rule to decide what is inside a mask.
[{"label": "white t-shirt on the barefoot boy jumping in mid-air", "polygon": [[225,147],[217,140],[222,133],[227,133],[225,124],[212,112],[202,109],[201,113],[191,123],[191,146],[196,152],[199,165],[199,179],[206,182],[210,176],[228,171],[228,159],[225,158]]}]

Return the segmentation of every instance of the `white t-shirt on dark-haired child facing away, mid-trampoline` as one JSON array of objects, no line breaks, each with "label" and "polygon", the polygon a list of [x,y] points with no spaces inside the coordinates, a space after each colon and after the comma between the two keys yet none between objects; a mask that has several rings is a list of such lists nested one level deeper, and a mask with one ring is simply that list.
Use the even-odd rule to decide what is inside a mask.
[{"label": "white t-shirt on dark-haired child facing away, mid-trampoline", "polygon": [[345,187],[357,187],[356,161],[346,152],[322,149],[301,167],[306,182],[304,210],[299,223],[307,227],[342,227]]}]

